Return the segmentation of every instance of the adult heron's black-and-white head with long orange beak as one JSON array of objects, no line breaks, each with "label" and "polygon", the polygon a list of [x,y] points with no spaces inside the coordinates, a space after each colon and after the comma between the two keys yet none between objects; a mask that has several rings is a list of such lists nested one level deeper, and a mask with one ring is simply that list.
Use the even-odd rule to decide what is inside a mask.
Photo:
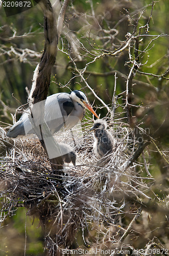
[{"label": "adult heron's black-and-white head with long orange beak", "polygon": [[98,115],[96,114],[96,112],[92,109],[92,106],[90,105],[90,103],[88,102],[88,99],[85,95],[85,93],[81,92],[81,91],[78,91],[78,90],[75,90],[75,91],[72,91],[70,93],[70,97],[73,101],[76,101],[78,102],[80,105],[83,106],[83,108],[85,109],[88,109],[89,111],[91,111],[97,118]]}]

